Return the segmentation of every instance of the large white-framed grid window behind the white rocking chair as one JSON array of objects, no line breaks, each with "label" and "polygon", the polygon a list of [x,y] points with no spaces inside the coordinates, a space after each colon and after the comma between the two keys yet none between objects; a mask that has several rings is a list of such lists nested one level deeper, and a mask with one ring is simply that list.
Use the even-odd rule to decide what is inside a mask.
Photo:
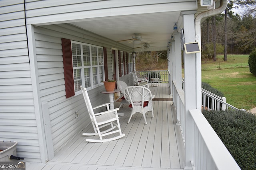
[{"label": "large white-framed grid window behind the white rocking chair", "polygon": [[80,86],[88,89],[104,80],[103,47],[71,41],[75,92]]}]

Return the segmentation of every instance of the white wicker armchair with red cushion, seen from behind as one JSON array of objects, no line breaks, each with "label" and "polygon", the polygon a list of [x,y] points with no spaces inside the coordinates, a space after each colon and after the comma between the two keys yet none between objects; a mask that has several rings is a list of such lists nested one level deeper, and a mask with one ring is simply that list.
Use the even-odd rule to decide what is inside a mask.
[{"label": "white wicker armchair with red cushion, seen from behind", "polygon": [[127,123],[130,123],[132,115],[135,113],[141,113],[144,117],[145,124],[147,124],[145,114],[148,111],[153,113],[152,99],[155,96],[151,94],[150,90],[143,86],[128,86],[124,91],[124,98],[130,103],[129,107],[132,107],[131,115]]}]

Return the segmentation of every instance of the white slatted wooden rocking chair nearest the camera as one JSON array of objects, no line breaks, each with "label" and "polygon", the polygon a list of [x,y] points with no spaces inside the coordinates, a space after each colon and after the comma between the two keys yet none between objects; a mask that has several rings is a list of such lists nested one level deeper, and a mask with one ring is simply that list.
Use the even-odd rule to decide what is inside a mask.
[{"label": "white slatted wooden rocking chair nearest the camera", "polygon": [[[125,134],[121,132],[121,127],[120,127],[120,123],[119,123],[119,119],[118,119],[118,115],[117,115],[117,111],[119,110],[119,108],[116,109],[109,109],[109,103],[106,104],[102,104],[100,106],[96,106],[94,108],[92,108],[92,104],[90,102],[90,98],[88,96],[88,92],[86,90],[86,88],[83,88],[82,86],[80,86],[82,94],[84,96],[84,101],[86,104],[86,107],[88,109],[88,113],[90,115],[90,119],[92,121],[92,126],[94,128],[94,132],[95,133],[83,133],[82,135],[84,136],[95,136],[95,135],[99,135],[100,139],[86,139],[87,142],[107,142],[107,141],[113,141],[116,139],[119,139],[121,137],[124,137]],[[100,108],[100,107],[107,107],[107,111],[103,111],[100,113],[94,113],[94,109],[96,108]],[[116,121],[116,123],[114,122]],[[113,125],[114,124],[114,125]],[[106,127],[110,125],[111,127],[105,131],[100,131],[100,129],[102,127]],[[118,128],[117,130],[112,131],[115,128]],[[112,138],[108,138],[108,139],[102,139],[103,136],[106,135],[110,135],[113,133],[119,133],[118,136],[116,137],[112,137]]]}]

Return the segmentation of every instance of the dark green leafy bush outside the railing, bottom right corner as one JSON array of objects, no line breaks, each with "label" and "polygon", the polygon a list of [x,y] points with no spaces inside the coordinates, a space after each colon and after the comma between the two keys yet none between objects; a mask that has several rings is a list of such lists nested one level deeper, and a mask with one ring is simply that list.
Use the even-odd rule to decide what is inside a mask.
[{"label": "dark green leafy bush outside the railing, bottom right corner", "polygon": [[256,169],[256,115],[240,110],[202,111],[242,170]]}]

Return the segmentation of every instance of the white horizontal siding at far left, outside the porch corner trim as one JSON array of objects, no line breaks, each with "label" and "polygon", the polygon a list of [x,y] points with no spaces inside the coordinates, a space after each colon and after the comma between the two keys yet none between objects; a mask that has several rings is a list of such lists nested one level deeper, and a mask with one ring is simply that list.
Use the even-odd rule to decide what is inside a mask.
[{"label": "white horizontal siding at far left, outside the porch corner trim", "polygon": [[41,162],[23,0],[0,2],[0,140],[17,141],[17,155]]}]

